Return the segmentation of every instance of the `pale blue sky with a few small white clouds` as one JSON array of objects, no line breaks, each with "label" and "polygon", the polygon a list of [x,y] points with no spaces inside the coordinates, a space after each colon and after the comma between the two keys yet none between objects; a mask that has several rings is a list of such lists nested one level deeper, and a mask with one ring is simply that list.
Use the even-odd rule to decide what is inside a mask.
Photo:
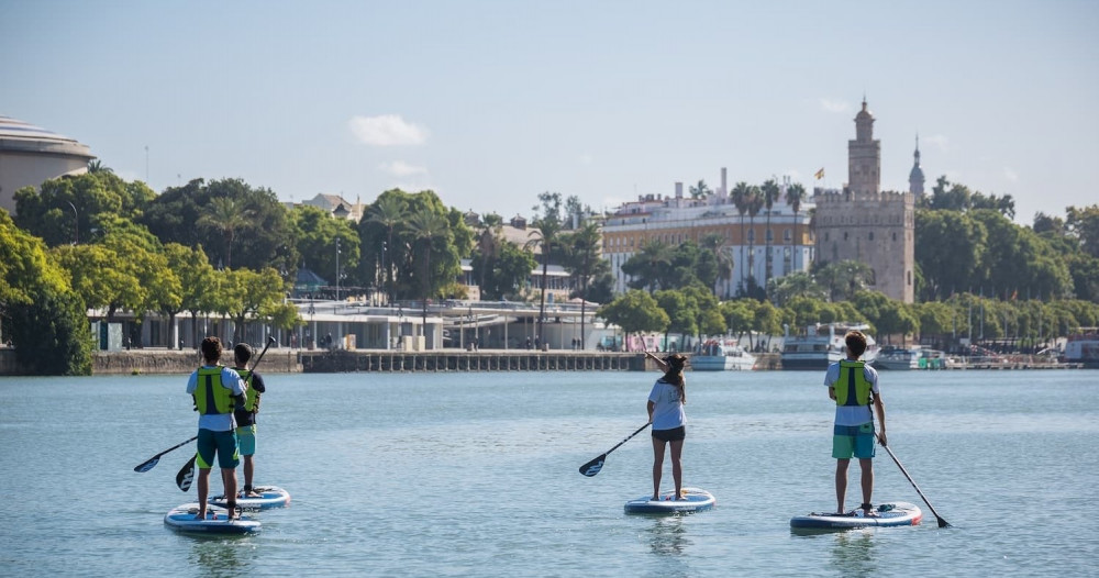
[{"label": "pale blue sky with a few small white clouds", "polygon": [[157,191],[431,189],[509,219],[723,167],[842,187],[865,97],[884,190],[919,135],[929,191],[1031,224],[1099,203],[1097,31],[1095,0],[0,0],[0,114]]}]

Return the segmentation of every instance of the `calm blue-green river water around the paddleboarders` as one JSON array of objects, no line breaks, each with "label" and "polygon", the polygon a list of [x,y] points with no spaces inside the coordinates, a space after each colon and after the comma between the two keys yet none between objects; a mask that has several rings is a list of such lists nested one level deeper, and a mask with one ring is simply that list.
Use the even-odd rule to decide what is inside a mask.
[{"label": "calm blue-green river water around the paddleboarders", "polygon": [[[170,532],[193,445],[185,376],[0,379],[2,576],[1057,576],[1094,571],[1099,371],[882,374],[875,501],[917,527],[793,535],[834,508],[815,373],[691,374],[693,516],[626,516],[651,490],[640,373],[269,375],[257,482],[293,496],[249,537]],[[847,502],[857,499],[852,466]],[[670,471],[665,474],[666,486]],[[213,475],[212,486],[220,487]]]}]

